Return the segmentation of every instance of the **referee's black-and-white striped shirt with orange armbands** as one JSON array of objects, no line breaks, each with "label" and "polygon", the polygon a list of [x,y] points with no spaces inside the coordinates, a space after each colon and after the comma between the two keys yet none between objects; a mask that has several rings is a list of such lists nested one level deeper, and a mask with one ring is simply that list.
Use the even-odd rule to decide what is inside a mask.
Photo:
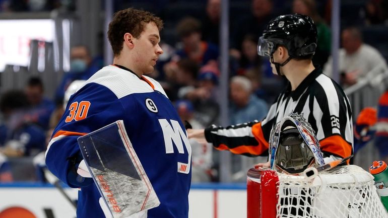
[{"label": "referee's black-and-white striped shirt with orange armbands", "polygon": [[[342,88],[315,68],[294,90],[288,84],[262,121],[205,129],[207,141],[218,150],[246,156],[268,155],[271,129],[284,116],[309,122],[325,156],[353,153],[353,123],[349,100]],[[267,153],[266,153],[267,151]]]}]

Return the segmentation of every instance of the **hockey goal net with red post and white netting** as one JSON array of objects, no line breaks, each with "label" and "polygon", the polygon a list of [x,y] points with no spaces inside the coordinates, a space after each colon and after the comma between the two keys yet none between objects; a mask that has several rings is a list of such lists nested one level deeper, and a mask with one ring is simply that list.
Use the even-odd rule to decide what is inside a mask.
[{"label": "hockey goal net with red post and white netting", "polygon": [[[358,166],[337,167],[313,179],[271,170],[259,174],[248,173],[248,218],[388,217],[373,176]],[[252,189],[252,183],[259,188]]]}]

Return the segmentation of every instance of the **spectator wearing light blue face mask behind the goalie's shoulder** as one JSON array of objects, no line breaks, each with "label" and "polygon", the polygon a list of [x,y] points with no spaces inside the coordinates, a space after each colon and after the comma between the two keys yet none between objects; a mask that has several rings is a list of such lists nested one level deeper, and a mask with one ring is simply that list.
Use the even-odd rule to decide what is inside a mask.
[{"label": "spectator wearing light blue face mask behind the goalie's shoulder", "polygon": [[62,102],[63,95],[69,85],[75,80],[87,80],[101,68],[98,58],[92,58],[85,45],[72,47],[70,54],[70,71],[63,75],[55,93],[55,102]]}]

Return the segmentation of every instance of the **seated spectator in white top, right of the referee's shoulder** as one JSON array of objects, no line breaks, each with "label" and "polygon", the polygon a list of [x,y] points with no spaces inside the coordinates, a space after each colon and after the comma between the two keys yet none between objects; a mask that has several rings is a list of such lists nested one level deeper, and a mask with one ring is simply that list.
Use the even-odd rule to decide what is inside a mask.
[{"label": "seated spectator in white top, right of the referee's shoulder", "polygon": [[[339,72],[341,72],[342,86],[357,83],[375,67],[386,67],[383,56],[376,48],[363,43],[361,32],[356,27],[344,29],[341,39],[343,48],[339,53]],[[332,62],[330,57],[324,68],[324,74],[329,77],[333,75]]]}]

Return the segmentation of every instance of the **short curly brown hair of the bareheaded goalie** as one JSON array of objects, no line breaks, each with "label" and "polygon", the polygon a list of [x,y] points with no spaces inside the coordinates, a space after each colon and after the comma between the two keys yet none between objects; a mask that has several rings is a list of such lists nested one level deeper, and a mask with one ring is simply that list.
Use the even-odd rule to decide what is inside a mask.
[{"label": "short curly brown hair of the bareheaded goalie", "polygon": [[150,22],[155,23],[159,31],[163,29],[163,21],[150,12],[133,8],[116,12],[108,28],[108,39],[113,54],[115,56],[120,54],[125,33],[131,33],[138,39],[144,31],[145,24]]}]

